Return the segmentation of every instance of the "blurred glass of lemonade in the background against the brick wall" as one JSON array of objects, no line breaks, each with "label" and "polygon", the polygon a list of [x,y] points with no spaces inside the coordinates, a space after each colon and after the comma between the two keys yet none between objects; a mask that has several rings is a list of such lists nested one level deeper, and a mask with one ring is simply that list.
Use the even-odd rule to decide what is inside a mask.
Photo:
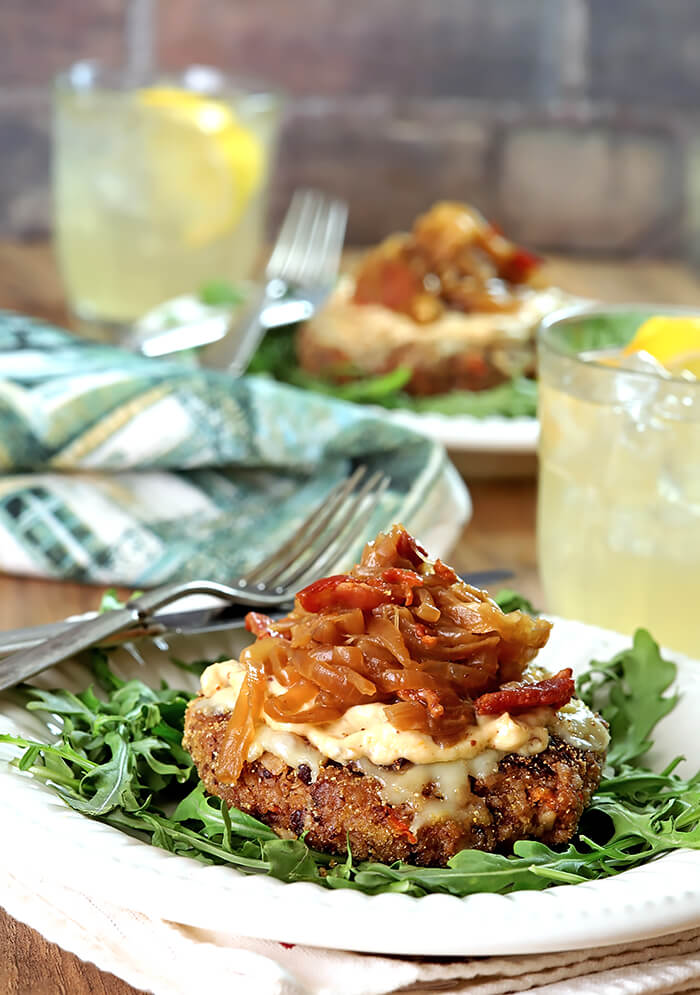
[{"label": "blurred glass of lemonade in the background against the brick wall", "polygon": [[131,84],[78,63],[56,81],[55,240],[70,306],[113,341],[168,298],[251,275],[279,97],[197,66]]}]

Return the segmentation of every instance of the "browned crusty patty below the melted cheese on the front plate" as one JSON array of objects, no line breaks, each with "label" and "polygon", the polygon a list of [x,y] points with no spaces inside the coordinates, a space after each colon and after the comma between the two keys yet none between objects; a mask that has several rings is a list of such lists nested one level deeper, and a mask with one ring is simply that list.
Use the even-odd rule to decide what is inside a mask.
[{"label": "browned crusty patty below the melted cheese on the front plate", "polygon": [[409,837],[410,805],[382,803],[379,783],[352,765],[329,761],[313,779],[308,767],[288,767],[269,753],[245,764],[236,784],[217,777],[227,715],[190,706],[183,743],[207,791],[248,812],[280,836],[306,833],[310,846],[390,863],[444,865],[465,848],[509,851],[520,839],[564,843],[571,839],[601,777],[602,756],[552,737],[542,753],[510,754],[498,770],[472,780],[463,816],[426,825]]}]

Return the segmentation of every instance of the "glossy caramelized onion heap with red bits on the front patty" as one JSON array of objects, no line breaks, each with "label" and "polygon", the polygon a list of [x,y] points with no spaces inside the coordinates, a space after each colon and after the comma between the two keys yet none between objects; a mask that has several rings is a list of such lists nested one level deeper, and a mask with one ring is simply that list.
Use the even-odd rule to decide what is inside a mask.
[{"label": "glossy caramelized onion heap with red bits on the front patty", "polygon": [[300,591],[285,618],[251,612],[247,627],[257,639],[241,654],[246,677],[221,757],[231,782],[263,712],[277,722],[320,724],[379,703],[394,728],[451,745],[477,712],[559,707],[573,694],[566,672],[499,692],[520,680],[550,623],[505,615],[484,591],[428,560],[399,525],[368,543],[350,573]]}]

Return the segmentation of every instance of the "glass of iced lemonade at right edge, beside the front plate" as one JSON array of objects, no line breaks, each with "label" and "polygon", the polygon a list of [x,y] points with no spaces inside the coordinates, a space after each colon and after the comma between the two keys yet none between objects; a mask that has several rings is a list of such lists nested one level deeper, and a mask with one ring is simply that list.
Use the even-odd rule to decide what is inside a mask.
[{"label": "glass of iced lemonade at right edge, beside the front plate", "polygon": [[537,533],[549,611],[644,626],[700,658],[700,380],[623,354],[649,318],[689,314],[578,308],[544,321]]}]

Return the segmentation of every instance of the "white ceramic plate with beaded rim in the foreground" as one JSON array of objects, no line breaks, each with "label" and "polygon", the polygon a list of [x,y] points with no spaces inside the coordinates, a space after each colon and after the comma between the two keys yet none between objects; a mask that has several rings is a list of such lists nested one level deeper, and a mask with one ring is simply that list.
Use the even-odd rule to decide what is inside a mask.
[{"label": "white ceramic plate with beaded rim in the foreground", "polygon": [[[230,634],[191,637],[173,640],[171,651],[190,658],[233,654],[239,648],[234,643]],[[558,621],[541,658],[553,669],[565,660],[580,672],[592,657],[605,659],[628,643],[613,633]],[[164,678],[180,686],[189,677],[151,643],[139,648],[145,668],[120,651],[114,658],[115,669],[125,676]],[[660,767],[681,752],[697,765],[700,663],[675,658],[682,697],[657,730],[650,757],[653,766]],[[79,664],[66,663],[37,682],[77,690],[87,683],[87,674]],[[10,695],[2,698],[3,731],[30,736],[40,732],[36,719]],[[3,756],[12,752],[1,749]],[[691,764],[682,769],[688,772]],[[27,887],[40,887],[43,878],[154,917],[203,928],[225,925],[234,934],[290,943],[385,954],[519,954],[640,940],[700,922],[698,852],[678,851],[615,878],[545,892],[465,899],[369,897],[247,877],[230,868],[173,856],[78,815],[49,789],[4,763],[0,764],[0,825],[0,862],[11,862],[13,873]]]}]

